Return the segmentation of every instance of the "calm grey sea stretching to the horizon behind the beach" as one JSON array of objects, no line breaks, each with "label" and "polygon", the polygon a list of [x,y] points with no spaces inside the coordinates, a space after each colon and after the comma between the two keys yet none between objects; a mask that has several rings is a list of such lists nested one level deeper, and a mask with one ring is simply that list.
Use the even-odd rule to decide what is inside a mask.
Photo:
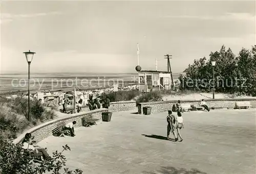
[{"label": "calm grey sea stretching to the horizon behind the beach", "polygon": [[[178,79],[183,72],[173,72],[173,79]],[[136,85],[138,73],[84,73],[84,72],[54,72],[31,73],[30,90],[42,91],[69,91],[74,87],[80,90],[107,89],[113,84],[118,86]],[[0,73],[0,93],[15,93],[28,90],[28,73]]]}]

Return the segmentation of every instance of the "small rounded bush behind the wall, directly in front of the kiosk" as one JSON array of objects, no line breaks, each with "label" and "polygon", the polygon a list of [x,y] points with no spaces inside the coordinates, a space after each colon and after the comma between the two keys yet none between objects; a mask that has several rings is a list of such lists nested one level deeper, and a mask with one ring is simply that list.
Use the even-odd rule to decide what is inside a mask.
[{"label": "small rounded bush behind the wall, directly in front of the kiosk", "polygon": [[151,92],[143,93],[136,100],[137,103],[159,102],[159,101],[162,101],[162,95],[159,91],[151,91]]}]

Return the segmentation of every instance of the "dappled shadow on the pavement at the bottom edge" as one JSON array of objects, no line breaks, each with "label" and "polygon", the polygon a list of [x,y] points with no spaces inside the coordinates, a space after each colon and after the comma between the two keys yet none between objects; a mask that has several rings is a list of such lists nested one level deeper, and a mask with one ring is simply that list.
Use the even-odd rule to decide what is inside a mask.
[{"label": "dappled shadow on the pavement at the bottom edge", "polygon": [[157,171],[143,171],[144,174],[207,174],[206,172],[202,172],[196,168],[191,168],[187,170],[185,168],[175,168],[175,167],[161,167],[160,170]]}]

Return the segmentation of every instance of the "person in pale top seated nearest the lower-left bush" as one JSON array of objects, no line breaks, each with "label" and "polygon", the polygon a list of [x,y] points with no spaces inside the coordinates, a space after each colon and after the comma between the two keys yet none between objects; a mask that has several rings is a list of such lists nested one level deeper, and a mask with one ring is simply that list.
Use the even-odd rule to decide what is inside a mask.
[{"label": "person in pale top seated nearest the lower-left bush", "polygon": [[46,152],[46,149],[43,147],[38,146],[35,144],[36,141],[30,142],[31,134],[27,133],[25,135],[25,138],[22,141],[22,145],[24,149],[29,149],[33,151],[33,156],[40,156],[40,153],[42,154],[42,158],[46,160],[47,157],[49,157],[49,154]]}]

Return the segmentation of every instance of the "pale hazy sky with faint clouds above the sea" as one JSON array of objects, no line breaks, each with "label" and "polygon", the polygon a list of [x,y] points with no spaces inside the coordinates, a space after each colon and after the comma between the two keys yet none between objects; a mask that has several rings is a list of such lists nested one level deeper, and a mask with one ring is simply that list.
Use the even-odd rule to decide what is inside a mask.
[{"label": "pale hazy sky with faint clouds above the sea", "polygon": [[255,2],[1,2],[0,73],[173,72],[224,44],[238,55],[255,44]]}]

